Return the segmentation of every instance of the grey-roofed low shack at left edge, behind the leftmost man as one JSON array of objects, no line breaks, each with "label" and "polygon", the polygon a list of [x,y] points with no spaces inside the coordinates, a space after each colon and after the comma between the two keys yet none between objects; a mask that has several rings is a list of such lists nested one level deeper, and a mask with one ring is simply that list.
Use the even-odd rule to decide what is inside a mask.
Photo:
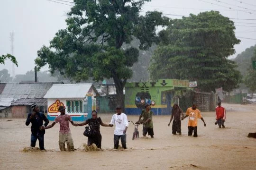
[{"label": "grey-roofed low shack at left edge, behind the leftmost man", "polygon": [[54,83],[1,83],[0,84],[0,117],[1,118],[26,118],[31,112],[30,106],[37,103],[40,111],[46,112],[46,92]]}]

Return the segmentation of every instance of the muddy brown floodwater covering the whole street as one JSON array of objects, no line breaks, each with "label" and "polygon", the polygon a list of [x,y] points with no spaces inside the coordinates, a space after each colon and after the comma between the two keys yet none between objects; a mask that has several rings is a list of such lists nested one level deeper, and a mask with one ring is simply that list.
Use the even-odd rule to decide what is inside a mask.
[{"label": "muddy brown floodwater covering the whole street", "polygon": [[[222,103],[227,110],[225,126],[214,125],[215,112],[202,112],[198,137],[188,136],[188,118],[182,121],[182,136],[172,135],[170,116],[154,116],[155,138],[132,140],[134,126],[129,124],[127,150],[114,150],[114,127],[101,127],[102,151],[85,152],[84,127],[71,127],[74,152],[60,152],[59,124],[47,129],[46,152],[23,152],[30,145],[30,126],[26,119],[0,119],[0,170],[256,170],[256,105]],[[112,114],[98,113],[104,123]],[[138,116],[128,120],[137,121]],[[50,122],[51,124],[52,122]],[[39,147],[38,141],[36,147]]]}]

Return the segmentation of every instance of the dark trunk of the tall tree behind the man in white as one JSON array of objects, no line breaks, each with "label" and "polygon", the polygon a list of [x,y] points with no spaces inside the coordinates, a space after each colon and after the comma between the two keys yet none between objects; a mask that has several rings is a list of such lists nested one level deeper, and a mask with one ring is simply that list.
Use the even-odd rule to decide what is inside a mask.
[{"label": "dark trunk of the tall tree behind the man in white", "polygon": [[126,83],[126,79],[122,82],[121,79],[116,74],[113,74],[114,83],[116,86],[116,106],[120,105],[122,107],[122,111],[124,112],[124,86]]}]

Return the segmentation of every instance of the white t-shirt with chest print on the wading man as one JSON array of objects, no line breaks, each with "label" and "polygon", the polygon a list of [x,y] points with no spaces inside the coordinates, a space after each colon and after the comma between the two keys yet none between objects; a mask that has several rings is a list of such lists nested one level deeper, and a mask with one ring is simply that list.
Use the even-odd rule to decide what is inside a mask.
[{"label": "white t-shirt with chest print on the wading man", "polygon": [[115,135],[124,135],[123,131],[125,130],[125,127],[128,127],[128,119],[126,114],[121,113],[118,115],[117,113],[112,116],[112,119],[110,121],[110,124],[115,124]]}]

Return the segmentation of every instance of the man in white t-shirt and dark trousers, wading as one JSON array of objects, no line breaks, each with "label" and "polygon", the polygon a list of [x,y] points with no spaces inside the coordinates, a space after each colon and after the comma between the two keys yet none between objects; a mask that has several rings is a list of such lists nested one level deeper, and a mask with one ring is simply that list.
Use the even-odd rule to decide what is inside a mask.
[{"label": "man in white t-shirt and dark trousers, wading", "polygon": [[123,149],[127,149],[126,147],[126,131],[128,128],[128,119],[126,114],[122,113],[122,107],[116,107],[117,113],[112,116],[110,121],[111,125],[116,125],[114,131],[114,149],[118,149],[119,139],[121,138],[121,143]]}]

